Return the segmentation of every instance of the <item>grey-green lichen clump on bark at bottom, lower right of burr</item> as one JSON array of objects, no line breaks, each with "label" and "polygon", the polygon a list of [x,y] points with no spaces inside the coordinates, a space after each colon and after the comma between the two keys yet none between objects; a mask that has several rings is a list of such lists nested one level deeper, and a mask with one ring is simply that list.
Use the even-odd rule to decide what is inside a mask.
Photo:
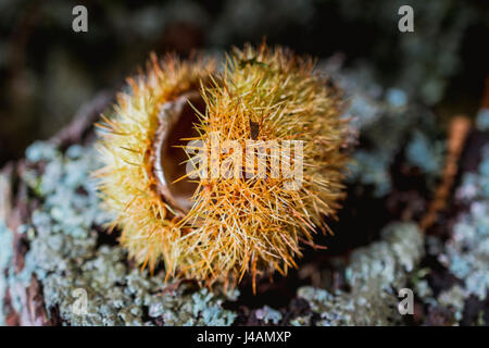
[{"label": "grey-green lichen clump on bark at bottom, lower right of burr", "polygon": [[[305,299],[319,315],[316,325],[392,325],[402,323],[396,289],[405,286],[408,275],[423,257],[423,235],[414,223],[392,223],[383,239],[353,252],[347,269],[350,293],[302,287]],[[296,318],[292,324],[311,324],[312,315]]]}]

